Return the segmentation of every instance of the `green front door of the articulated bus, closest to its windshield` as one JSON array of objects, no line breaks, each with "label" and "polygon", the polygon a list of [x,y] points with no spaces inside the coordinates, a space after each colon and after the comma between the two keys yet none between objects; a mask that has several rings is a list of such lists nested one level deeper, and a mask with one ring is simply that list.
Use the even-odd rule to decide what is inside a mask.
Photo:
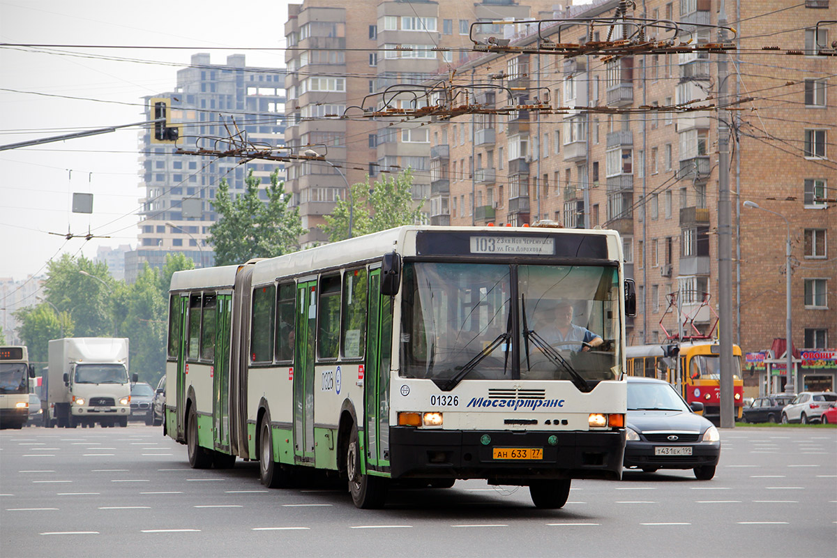
[{"label": "green front door of the articulated bus, closest to its windshield", "polygon": [[364,405],[367,463],[389,465],[389,371],[392,361],[393,304],[381,294],[381,269],[369,272]]}]

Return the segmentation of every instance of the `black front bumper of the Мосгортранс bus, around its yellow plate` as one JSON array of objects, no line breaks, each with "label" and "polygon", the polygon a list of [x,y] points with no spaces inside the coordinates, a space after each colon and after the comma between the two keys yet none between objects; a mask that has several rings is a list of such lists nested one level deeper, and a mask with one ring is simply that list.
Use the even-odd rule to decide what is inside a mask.
[{"label": "black front bumper of the \u041c\u043e\u0441\u0433\u043e\u0440\u0442\u0440\u0430\u043d\u0441 bus, around its yellow plate", "polygon": [[[390,427],[389,433],[393,479],[488,479],[526,485],[542,479],[622,475],[624,429],[518,433]],[[495,448],[542,448],[542,458],[495,458]]]}]

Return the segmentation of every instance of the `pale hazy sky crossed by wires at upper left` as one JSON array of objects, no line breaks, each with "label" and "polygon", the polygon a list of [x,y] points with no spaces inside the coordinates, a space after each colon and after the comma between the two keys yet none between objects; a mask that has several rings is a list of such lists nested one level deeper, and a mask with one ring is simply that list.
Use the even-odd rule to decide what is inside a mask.
[{"label": "pale hazy sky crossed by wires at upper left", "polygon": [[[0,42],[7,44],[189,47],[0,48],[0,146],[144,120],[141,97],[172,90],[177,64],[197,52],[211,52],[213,64],[241,52],[248,65],[282,67],[281,50],[237,49],[284,47],[287,4],[0,0]],[[201,50],[208,47],[230,49]],[[138,138],[138,129],[128,128],[0,151],[0,277],[41,274],[64,252],[92,259],[100,245],[136,247],[144,195]],[[92,215],[70,212],[72,192],[93,193]],[[68,228],[110,238],[68,241],[49,234]]]}]

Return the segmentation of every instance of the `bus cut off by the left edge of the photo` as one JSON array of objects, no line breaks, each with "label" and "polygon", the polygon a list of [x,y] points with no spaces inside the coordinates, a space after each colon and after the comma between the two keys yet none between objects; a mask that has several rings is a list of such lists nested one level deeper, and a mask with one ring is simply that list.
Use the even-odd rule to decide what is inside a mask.
[{"label": "bus cut off by the left edge of the photo", "polygon": [[35,369],[24,346],[0,347],[0,428],[22,428],[29,419],[29,378]]}]

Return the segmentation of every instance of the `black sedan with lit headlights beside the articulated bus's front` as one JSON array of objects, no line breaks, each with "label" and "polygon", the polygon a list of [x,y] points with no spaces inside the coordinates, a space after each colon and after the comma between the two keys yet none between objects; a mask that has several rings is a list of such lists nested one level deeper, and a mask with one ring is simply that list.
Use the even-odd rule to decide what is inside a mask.
[{"label": "black sedan with lit headlights beside the articulated bus's front", "polygon": [[646,473],[691,468],[698,480],[714,477],[721,437],[695,413],[702,408],[698,402],[690,408],[666,381],[629,376],[624,466]]}]

